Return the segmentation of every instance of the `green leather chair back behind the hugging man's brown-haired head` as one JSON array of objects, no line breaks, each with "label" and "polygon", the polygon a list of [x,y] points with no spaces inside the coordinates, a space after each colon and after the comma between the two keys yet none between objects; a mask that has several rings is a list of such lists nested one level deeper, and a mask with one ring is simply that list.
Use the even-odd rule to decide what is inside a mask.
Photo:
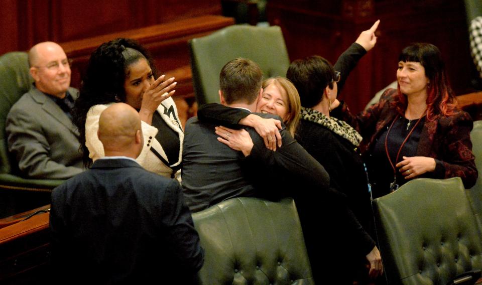
[{"label": "green leather chair back behind the hugging man's brown-haired head", "polygon": [[230,60],[258,63],[265,78],[286,76],[290,64],[280,27],[234,25],[189,42],[194,92],[199,105],[219,103],[219,73]]}]

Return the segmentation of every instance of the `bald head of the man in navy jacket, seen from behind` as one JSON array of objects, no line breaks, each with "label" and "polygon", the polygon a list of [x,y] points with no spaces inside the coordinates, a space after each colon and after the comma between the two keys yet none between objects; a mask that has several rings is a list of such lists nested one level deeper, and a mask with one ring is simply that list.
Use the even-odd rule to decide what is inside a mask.
[{"label": "bald head of the man in navy jacket, seen from behind", "polygon": [[100,114],[97,135],[105,156],[135,159],[144,144],[139,113],[126,103],[112,104]]}]

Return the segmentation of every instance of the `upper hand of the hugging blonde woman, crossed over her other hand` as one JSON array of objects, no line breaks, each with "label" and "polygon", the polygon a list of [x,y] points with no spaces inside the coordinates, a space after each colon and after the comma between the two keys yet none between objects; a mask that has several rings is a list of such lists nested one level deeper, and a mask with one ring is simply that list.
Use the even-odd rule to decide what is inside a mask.
[{"label": "upper hand of the hugging blonde woman, crossed over her other hand", "polygon": [[280,120],[249,114],[247,117],[240,119],[239,124],[254,127],[256,132],[263,137],[267,149],[276,151],[276,146],[281,148]]}]

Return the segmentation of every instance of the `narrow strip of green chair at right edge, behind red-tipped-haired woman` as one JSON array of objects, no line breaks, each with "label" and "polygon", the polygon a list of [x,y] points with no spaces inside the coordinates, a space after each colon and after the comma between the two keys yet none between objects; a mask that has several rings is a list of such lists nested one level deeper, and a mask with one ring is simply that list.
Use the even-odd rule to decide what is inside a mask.
[{"label": "narrow strip of green chair at right edge, behind red-tipped-haired woman", "polygon": [[473,122],[470,139],[472,140],[472,152],[475,156],[478,178],[475,185],[466,190],[466,194],[475,214],[479,229],[482,231],[482,144],[480,144],[480,142],[482,142],[482,121]]}]

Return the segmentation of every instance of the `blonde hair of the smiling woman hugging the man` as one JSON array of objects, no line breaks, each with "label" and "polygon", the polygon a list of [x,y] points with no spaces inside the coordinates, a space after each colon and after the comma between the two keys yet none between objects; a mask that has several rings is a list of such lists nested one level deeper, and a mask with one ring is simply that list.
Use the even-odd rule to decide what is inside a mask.
[{"label": "blonde hair of the smiling woman hugging the man", "polygon": [[298,90],[296,90],[295,85],[293,85],[291,81],[284,77],[272,77],[266,79],[263,81],[263,89],[270,84],[275,84],[276,87],[286,93],[286,97],[288,98],[288,117],[284,123],[291,135],[294,136],[301,117],[301,102]]}]

